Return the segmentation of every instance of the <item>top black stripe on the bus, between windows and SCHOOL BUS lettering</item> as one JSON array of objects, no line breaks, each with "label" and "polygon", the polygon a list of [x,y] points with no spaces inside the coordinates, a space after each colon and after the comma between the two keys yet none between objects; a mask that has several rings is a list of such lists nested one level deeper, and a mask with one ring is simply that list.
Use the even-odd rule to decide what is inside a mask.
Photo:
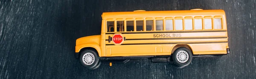
[{"label": "top black stripe on the bus, between windows and SCHOOL BUS lettering", "polygon": [[[223,30],[225,31],[225,30]],[[121,34],[147,34],[147,33],[187,33],[187,32],[221,32],[221,31],[146,31],[146,32],[120,32]],[[116,34],[116,33],[106,33],[106,34]]]}]

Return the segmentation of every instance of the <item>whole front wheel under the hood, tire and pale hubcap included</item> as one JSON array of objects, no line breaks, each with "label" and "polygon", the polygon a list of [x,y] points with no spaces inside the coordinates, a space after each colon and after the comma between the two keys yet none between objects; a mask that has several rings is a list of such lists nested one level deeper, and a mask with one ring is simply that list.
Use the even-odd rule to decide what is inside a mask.
[{"label": "whole front wheel under the hood, tire and pale hubcap included", "polygon": [[85,68],[96,69],[96,66],[99,66],[99,56],[95,51],[85,50],[80,54],[80,63]]}]

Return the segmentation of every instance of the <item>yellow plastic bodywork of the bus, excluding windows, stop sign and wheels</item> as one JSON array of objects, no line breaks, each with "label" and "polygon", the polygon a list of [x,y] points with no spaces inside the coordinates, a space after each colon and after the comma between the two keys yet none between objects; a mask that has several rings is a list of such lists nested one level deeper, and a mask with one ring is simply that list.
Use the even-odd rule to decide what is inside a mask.
[{"label": "yellow plastic bodywork of the bus, excluding windows, stop sign and wheels", "polygon": [[[202,30],[195,29],[195,19],[202,19]],[[221,18],[221,29],[214,29],[214,18]],[[183,20],[183,30],[165,29],[165,20]],[[185,19],[193,20],[192,30],[185,30]],[[204,29],[204,19],[212,19],[212,29]],[[142,31],[126,31],[126,21],[133,20],[136,28],[136,20],[143,20]],[[154,30],[145,31],[145,20],[154,20]],[[163,30],[156,31],[156,20],[163,20]],[[107,21],[114,21],[113,32],[107,28]],[[124,31],[118,31],[117,21],[124,21]],[[104,12],[102,14],[101,35],[82,37],[76,40],[76,53],[82,48],[95,48],[99,56],[149,56],[171,55],[173,48],[187,45],[193,54],[227,54],[228,48],[227,23],[223,10],[182,10],[182,11],[129,11],[129,12]],[[109,36],[122,34],[122,44],[117,45],[113,40],[108,42]],[[164,37],[163,37],[164,35]],[[167,37],[168,36],[168,37]],[[175,47],[176,46],[176,47]]]}]

